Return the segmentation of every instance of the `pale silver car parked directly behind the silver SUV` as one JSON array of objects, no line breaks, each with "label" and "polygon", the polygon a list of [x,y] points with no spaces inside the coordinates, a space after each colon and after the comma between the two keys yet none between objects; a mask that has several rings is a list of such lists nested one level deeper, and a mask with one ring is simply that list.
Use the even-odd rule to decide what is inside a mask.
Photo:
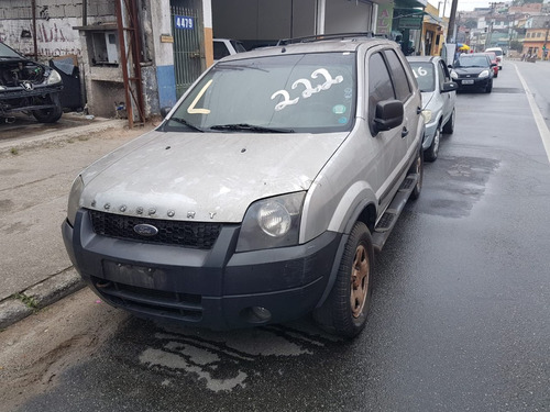
[{"label": "pale silver car parked directly behind the silver SUV", "polygon": [[435,162],[439,154],[441,133],[454,131],[458,85],[441,57],[407,56],[418,88],[422,93],[422,116],[426,122],[424,133],[424,158]]}]

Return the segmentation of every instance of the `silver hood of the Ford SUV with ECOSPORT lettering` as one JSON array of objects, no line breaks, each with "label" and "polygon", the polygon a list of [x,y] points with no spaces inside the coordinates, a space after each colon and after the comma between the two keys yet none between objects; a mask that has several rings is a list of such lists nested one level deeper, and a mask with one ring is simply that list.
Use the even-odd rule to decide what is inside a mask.
[{"label": "silver hood of the Ford SUV with ECOSPORT lettering", "polygon": [[154,131],[81,174],[80,205],[153,219],[170,212],[174,220],[241,222],[257,199],[309,189],[346,135]]}]

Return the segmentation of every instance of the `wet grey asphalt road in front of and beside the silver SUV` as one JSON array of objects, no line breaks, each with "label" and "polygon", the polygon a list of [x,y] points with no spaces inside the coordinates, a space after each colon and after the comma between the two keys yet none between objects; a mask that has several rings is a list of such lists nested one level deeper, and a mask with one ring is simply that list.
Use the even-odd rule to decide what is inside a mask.
[{"label": "wet grey asphalt road in front of and beside the silver SUV", "polygon": [[550,167],[513,67],[505,62],[491,94],[458,96],[455,132],[443,136],[420,199],[376,258],[372,312],[355,341],[308,320],[230,333],[178,329],[85,290],[2,332],[0,404],[550,410]]}]

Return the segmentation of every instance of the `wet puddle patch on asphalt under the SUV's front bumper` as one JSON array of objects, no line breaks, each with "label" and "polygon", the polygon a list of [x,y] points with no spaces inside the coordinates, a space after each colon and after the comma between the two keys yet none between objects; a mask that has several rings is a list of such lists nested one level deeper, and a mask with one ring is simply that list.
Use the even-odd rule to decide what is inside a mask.
[{"label": "wet puddle patch on asphalt under the SUV's front bumper", "polygon": [[[231,332],[161,327],[153,335],[153,345],[139,354],[139,363],[168,375],[194,375],[212,392],[245,388],[262,374],[265,365],[260,364],[265,358],[292,361],[311,357],[316,350],[339,342],[306,323]],[[168,379],[163,385],[169,383]]]}]

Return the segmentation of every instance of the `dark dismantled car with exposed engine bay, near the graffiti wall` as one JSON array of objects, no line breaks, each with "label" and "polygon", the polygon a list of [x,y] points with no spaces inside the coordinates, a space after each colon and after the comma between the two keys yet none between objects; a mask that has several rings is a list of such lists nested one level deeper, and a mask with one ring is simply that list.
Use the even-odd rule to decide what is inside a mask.
[{"label": "dark dismantled car with exposed engine bay, near the graffiti wall", "polygon": [[38,122],[54,123],[63,114],[59,74],[22,56],[0,42],[0,118],[32,114]]}]

